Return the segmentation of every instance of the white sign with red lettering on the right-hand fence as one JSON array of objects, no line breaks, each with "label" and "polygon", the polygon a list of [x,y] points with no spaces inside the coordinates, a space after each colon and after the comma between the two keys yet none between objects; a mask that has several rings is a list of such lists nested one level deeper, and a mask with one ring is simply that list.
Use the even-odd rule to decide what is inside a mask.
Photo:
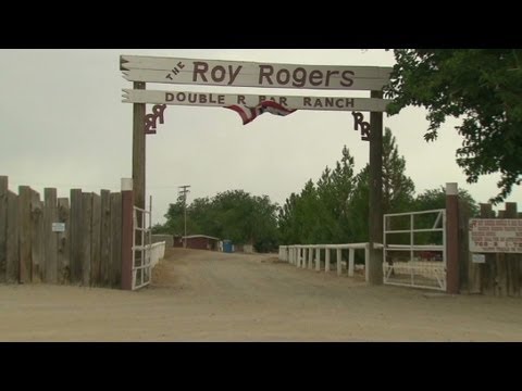
[{"label": "white sign with red lettering on the right-hand fence", "polygon": [[522,253],[522,219],[471,218],[470,251]]}]

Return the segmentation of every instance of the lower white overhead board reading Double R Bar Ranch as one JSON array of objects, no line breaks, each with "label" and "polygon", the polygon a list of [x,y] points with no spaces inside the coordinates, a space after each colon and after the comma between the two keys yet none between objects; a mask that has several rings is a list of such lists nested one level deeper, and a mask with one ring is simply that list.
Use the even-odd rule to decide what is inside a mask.
[{"label": "lower white overhead board reading Double R Bar Ranch", "polygon": [[194,106],[256,106],[271,100],[288,109],[384,112],[387,99],[348,97],[293,97],[231,94],[196,91],[123,90],[124,103],[153,103]]}]

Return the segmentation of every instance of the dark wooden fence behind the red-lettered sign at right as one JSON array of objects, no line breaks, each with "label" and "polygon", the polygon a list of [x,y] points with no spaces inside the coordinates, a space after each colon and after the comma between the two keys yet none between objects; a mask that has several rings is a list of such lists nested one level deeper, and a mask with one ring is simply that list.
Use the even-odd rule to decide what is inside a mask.
[{"label": "dark wooden fence behind the red-lettered sign at right", "polygon": [[[469,218],[467,211],[460,211],[460,270],[461,288],[470,293],[498,297],[520,297],[522,287],[522,254],[488,253],[485,263],[473,263],[469,251]],[[481,204],[481,218],[522,218],[517,212],[515,202],[507,202],[504,211],[492,210],[489,204]]]}]

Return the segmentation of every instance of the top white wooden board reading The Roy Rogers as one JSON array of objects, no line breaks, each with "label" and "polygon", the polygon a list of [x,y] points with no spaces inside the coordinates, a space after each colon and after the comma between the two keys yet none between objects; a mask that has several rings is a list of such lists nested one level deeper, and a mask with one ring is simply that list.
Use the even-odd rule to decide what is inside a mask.
[{"label": "top white wooden board reading The Roy Rogers", "polygon": [[121,55],[129,81],[235,87],[381,90],[391,67],[293,65]]}]

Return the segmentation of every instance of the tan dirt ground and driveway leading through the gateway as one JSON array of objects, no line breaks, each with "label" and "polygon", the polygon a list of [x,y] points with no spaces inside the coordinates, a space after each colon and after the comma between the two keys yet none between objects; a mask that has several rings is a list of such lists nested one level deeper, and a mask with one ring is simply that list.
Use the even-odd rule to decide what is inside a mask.
[{"label": "tan dirt ground and driveway leading through the gateway", "polygon": [[520,298],[371,287],[274,261],[176,249],[137,292],[1,285],[0,341],[522,341]]}]

